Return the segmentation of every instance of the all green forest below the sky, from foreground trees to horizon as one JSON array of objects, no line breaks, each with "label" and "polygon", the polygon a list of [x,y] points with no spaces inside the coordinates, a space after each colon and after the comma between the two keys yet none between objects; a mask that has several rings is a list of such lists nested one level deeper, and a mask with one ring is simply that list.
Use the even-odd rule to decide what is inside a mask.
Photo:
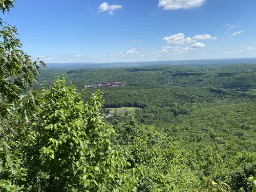
[{"label": "all green forest below the sky, from foreground trees to horizon", "polygon": [[0,32],[0,191],[256,191],[255,65],[47,70]]}]

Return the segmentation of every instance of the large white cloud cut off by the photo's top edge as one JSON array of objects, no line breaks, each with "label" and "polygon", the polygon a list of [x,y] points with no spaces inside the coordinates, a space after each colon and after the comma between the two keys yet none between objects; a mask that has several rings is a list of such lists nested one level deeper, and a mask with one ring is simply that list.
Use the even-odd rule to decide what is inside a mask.
[{"label": "large white cloud cut off by the photo's top edge", "polygon": [[206,0],[159,0],[158,7],[164,10],[189,9],[203,5]]}]

